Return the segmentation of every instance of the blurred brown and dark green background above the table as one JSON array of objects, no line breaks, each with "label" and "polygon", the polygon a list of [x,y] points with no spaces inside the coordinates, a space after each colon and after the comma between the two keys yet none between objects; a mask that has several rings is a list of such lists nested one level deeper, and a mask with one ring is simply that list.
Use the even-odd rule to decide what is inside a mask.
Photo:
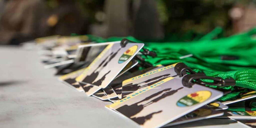
[{"label": "blurred brown and dark green background above the table", "polygon": [[0,44],[83,34],[190,41],[216,27],[230,36],[256,25],[255,4],[251,0],[0,0]]}]

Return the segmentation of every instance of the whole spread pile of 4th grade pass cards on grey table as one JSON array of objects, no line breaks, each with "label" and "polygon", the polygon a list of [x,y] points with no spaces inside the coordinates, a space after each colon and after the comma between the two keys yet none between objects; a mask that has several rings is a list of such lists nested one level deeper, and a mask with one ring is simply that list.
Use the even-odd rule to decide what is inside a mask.
[{"label": "whole spread pile of 4th grade pass cards on grey table", "polygon": [[223,111],[228,109],[228,104],[256,97],[252,92],[243,94],[240,99],[219,102],[216,100],[223,96],[221,91],[199,84],[191,88],[183,86],[183,77],[174,70],[177,63],[138,70],[141,61],[135,56],[140,56],[143,43],[95,44],[88,38],[56,43],[60,38],[38,39],[38,42],[47,40],[42,47],[51,51],[48,54],[52,62],[49,61],[46,67],[57,67],[58,72],[65,73],[59,80],[74,90],[112,102],[105,107],[140,127],[167,127],[208,118],[251,119],[254,116],[251,111]]}]

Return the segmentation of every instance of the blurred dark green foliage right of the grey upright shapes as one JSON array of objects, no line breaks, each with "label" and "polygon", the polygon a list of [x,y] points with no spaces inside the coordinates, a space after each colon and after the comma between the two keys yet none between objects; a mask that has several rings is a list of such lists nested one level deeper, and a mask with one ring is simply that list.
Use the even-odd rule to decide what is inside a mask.
[{"label": "blurred dark green foliage right of the grey upright shapes", "polygon": [[219,26],[225,35],[232,34],[228,11],[236,4],[246,6],[250,0],[157,0],[159,18],[165,33],[195,31],[208,33]]}]

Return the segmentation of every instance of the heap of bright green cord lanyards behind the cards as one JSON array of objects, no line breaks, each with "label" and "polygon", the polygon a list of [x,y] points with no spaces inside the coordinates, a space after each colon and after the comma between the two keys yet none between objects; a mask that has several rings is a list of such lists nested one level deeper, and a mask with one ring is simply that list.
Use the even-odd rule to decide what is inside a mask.
[{"label": "heap of bright green cord lanyards behind the cards", "polygon": [[[207,76],[236,80],[236,87],[256,90],[256,28],[247,33],[230,37],[218,38],[222,34],[221,28],[216,28],[200,39],[189,42],[144,42],[144,48],[156,53],[156,57],[142,55],[145,62],[153,66],[170,65],[183,62],[195,71],[204,72]],[[110,37],[107,39],[88,35],[91,41],[110,42],[123,38],[134,42],[142,42],[134,37]],[[190,55],[190,57],[185,57]],[[205,80],[210,82],[210,80]],[[216,89],[234,90],[233,87],[216,87]],[[232,92],[220,101],[226,101],[239,95]]]}]

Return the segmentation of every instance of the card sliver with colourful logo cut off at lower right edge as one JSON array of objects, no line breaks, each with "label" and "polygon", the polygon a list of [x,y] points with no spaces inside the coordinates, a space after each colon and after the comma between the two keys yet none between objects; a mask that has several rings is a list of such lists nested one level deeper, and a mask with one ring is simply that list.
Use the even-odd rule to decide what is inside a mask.
[{"label": "card sliver with colourful logo cut off at lower right edge", "polygon": [[217,118],[232,118],[232,119],[256,119],[256,111],[244,112],[225,112],[223,116]]}]

